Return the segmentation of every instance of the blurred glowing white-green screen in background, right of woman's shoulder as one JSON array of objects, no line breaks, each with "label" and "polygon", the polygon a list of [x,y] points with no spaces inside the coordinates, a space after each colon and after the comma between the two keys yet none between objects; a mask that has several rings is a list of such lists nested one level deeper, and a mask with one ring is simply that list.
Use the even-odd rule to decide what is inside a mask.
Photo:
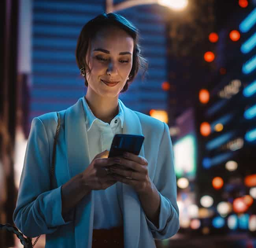
[{"label": "blurred glowing white-green screen in background, right of woman's shoulder", "polygon": [[173,151],[176,175],[194,178],[196,172],[195,137],[189,134],[181,138],[173,145]]}]

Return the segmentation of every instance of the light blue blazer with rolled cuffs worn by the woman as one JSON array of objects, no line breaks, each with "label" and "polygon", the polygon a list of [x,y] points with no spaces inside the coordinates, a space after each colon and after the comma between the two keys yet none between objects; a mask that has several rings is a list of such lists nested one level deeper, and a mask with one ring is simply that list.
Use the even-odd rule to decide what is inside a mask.
[{"label": "light blue blazer with rolled cuffs worn by the woman", "polygon": [[[124,134],[145,136],[139,155],[148,161],[148,175],[160,194],[160,220],[157,228],[146,217],[137,193],[131,186],[117,182],[122,194],[124,247],[153,248],[154,239],[167,239],[179,229],[176,203],[176,177],[173,148],[166,123],[131,110],[124,110]],[[80,200],[70,212],[61,215],[61,186],[82,173],[90,163],[85,113],[82,98],[61,111],[61,128],[56,149],[54,187],[50,190],[50,165],[57,127],[56,112],[32,121],[20,178],[13,221],[24,235],[46,234],[46,248],[91,248],[94,191]],[[150,204],[150,202],[148,202]]]}]

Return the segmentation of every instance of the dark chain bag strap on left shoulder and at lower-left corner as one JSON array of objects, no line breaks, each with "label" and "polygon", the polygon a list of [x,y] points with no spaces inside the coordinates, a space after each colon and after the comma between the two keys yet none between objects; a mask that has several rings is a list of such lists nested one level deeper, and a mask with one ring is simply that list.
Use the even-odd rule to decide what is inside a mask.
[{"label": "dark chain bag strap on left shoulder and at lower-left corner", "polygon": [[[54,175],[54,165],[55,165],[55,155],[56,155],[56,145],[57,145],[57,138],[59,136],[59,129],[60,129],[60,115],[59,112],[57,112],[57,116],[58,116],[58,125],[57,125],[57,129],[56,129],[56,134],[54,136],[54,145],[53,145],[53,152],[52,152],[52,166],[50,169],[50,188],[52,189],[52,178]],[[36,242],[38,241],[38,239],[40,238],[41,235],[37,236],[35,242],[32,244],[32,238],[27,237],[25,238],[23,236],[23,234],[15,227],[15,226],[11,226],[10,224],[0,224],[0,230],[7,230],[7,231],[11,231],[13,233],[15,233],[17,235],[17,237],[19,238],[20,242],[22,243],[22,245],[24,246],[24,248],[33,248],[36,244]]]}]

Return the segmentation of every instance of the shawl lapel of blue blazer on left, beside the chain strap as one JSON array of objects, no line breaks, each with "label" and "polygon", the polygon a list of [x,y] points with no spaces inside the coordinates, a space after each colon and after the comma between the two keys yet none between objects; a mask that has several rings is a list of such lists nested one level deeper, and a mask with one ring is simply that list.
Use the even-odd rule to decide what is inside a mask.
[{"label": "shawl lapel of blue blazer on left, beside the chain strap", "polygon": [[[91,158],[88,150],[88,138],[85,126],[85,114],[82,99],[67,109],[65,114],[65,140],[70,178],[82,173],[89,165]],[[93,194],[82,198],[75,208],[75,241],[76,248],[89,246],[93,226]],[[90,220],[90,221],[89,221]]]}]

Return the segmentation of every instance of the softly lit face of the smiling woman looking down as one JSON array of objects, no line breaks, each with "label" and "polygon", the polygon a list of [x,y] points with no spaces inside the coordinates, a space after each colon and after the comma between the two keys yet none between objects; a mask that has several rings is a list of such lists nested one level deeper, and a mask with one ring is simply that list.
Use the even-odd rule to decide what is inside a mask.
[{"label": "softly lit face of the smiling woman looking down", "polygon": [[[116,97],[124,87],[132,69],[134,40],[116,27],[108,27],[96,34],[87,51],[86,72],[88,90],[102,97]],[[87,91],[88,91],[87,90]]]}]

